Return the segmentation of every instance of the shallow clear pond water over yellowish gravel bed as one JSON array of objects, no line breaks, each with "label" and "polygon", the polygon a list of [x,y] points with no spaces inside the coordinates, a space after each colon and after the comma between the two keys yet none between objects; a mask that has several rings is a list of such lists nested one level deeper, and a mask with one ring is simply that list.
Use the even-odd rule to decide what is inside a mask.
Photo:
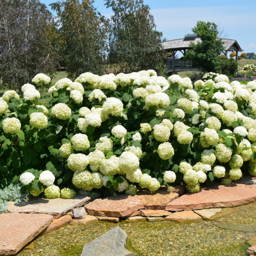
[{"label": "shallow clear pond water over yellowish gravel bed", "polygon": [[19,256],[80,256],[85,243],[119,226],[129,236],[128,249],[139,256],[244,256],[245,241],[256,236],[256,202],[235,207],[236,212],[215,220],[95,222],[66,225],[34,239],[34,249]]}]

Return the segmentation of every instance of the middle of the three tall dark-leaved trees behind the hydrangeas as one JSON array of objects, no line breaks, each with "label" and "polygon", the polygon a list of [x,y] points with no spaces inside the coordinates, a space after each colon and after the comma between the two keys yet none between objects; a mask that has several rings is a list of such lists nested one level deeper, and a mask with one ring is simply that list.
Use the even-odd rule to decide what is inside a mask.
[{"label": "middle of the three tall dark-leaved trees behind the hydrangeas", "polygon": [[106,21],[92,4],[93,1],[89,0],[51,4],[52,9],[57,11],[60,34],[65,40],[63,60],[70,78],[87,71],[101,74],[104,68]]}]

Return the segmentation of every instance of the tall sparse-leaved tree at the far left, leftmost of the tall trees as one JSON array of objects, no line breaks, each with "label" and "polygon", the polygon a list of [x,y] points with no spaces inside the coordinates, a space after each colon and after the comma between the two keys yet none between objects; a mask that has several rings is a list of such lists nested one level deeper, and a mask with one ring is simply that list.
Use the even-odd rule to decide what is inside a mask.
[{"label": "tall sparse-leaved tree at the far left, leftmost of the tall trees", "polygon": [[20,90],[36,73],[53,75],[60,37],[49,12],[38,0],[0,0],[0,77]]}]

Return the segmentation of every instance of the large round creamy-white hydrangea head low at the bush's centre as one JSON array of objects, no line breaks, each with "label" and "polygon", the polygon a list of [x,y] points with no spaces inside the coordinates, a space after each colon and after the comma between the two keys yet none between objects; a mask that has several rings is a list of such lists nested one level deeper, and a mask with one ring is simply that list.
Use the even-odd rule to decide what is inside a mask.
[{"label": "large round creamy-white hydrangea head low at the bush's centre", "polygon": [[139,158],[132,152],[124,151],[119,157],[119,168],[124,173],[135,172],[140,165]]}]

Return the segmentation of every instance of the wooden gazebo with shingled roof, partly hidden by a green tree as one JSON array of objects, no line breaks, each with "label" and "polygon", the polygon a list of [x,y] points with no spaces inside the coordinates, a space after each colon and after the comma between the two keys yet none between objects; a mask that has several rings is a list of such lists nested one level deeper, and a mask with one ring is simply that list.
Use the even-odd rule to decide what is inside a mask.
[{"label": "wooden gazebo with shingled roof, partly hidden by a green tree", "polygon": [[[223,41],[225,56],[228,55],[228,52],[236,52],[236,61],[238,61],[238,52],[242,52],[240,45],[233,39],[221,39]],[[196,34],[187,34],[184,38],[174,39],[170,41],[165,41],[162,43],[163,48],[166,52],[171,52],[172,57],[167,58],[167,71],[168,72],[179,72],[179,71],[197,71],[198,68],[192,68],[191,61],[180,59],[175,59],[175,54],[181,52],[183,56],[186,54],[186,51],[191,49],[189,46],[190,43],[197,44],[201,42],[201,39]]]}]

